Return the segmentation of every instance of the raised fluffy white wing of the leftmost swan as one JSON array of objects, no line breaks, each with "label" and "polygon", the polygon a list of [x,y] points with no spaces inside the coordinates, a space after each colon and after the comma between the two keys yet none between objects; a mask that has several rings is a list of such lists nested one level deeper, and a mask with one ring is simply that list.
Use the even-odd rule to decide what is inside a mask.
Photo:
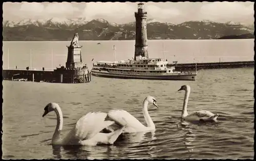
[{"label": "raised fluffy white wing of the leftmost swan", "polygon": [[75,125],[75,138],[87,140],[93,138],[103,128],[115,123],[114,121],[104,121],[106,113],[90,112],[82,116]]}]

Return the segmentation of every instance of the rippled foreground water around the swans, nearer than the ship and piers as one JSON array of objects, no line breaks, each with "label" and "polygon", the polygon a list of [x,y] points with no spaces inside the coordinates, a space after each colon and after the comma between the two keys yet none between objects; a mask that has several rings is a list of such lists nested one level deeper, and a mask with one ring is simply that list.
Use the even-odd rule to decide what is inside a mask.
[{"label": "rippled foreground water around the swans, nearer than the ship and piers", "polygon": [[[240,77],[238,70],[241,71],[240,74],[251,73],[239,80],[239,86],[232,83],[233,77]],[[8,91],[5,90],[3,95],[3,156],[55,159],[251,159],[254,155],[254,99],[251,91],[253,85],[248,82],[254,80],[253,69],[238,70],[200,70],[196,82],[124,81],[94,77],[95,81],[90,86],[77,85],[72,97],[68,92],[61,92],[60,95],[63,88],[74,92],[74,87],[69,85],[48,84],[50,88],[46,88],[43,84],[4,81],[4,89]],[[106,83],[108,86],[105,86]],[[218,113],[218,122],[180,123],[184,92],[179,93],[177,90],[183,84],[191,86],[188,112],[208,110]],[[90,95],[82,96],[88,91]],[[56,126],[56,115],[49,113],[43,121],[41,114],[40,119],[37,118],[38,111],[44,108],[41,104],[56,101],[61,104],[65,117],[61,136],[69,132],[80,116],[90,111],[121,109],[146,125],[142,102],[147,95],[154,96],[159,105],[156,110],[152,104],[148,104],[148,113],[156,125],[155,133],[121,135],[114,145],[53,147],[50,144]],[[17,108],[19,110],[15,110]],[[34,149],[35,152],[28,149]]]}]

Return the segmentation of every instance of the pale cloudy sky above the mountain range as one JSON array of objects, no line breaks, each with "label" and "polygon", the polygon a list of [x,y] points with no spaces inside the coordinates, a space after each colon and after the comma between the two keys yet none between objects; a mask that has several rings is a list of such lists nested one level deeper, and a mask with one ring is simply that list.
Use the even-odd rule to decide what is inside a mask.
[{"label": "pale cloudy sky above the mountain range", "polygon": [[[109,22],[129,23],[135,21],[138,3],[10,3],[3,4],[4,20],[50,19],[85,17],[90,21],[103,18]],[[241,22],[253,24],[253,2],[166,2],[144,3],[147,18],[160,22],[179,24],[185,21],[211,20],[216,22]]]}]

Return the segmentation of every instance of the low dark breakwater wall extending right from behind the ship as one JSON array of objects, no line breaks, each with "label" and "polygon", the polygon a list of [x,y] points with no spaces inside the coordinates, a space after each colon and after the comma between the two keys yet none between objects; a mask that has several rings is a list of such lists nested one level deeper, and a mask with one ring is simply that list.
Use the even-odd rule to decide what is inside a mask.
[{"label": "low dark breakwater wall extending right from behind the ship", "polygon": [[200,69],[223,69],[223,68],[247,68],[254,67],[254,61],[241,62],[216,62],[216,63],[183,63],[168,64],[176,66],[176,71],[200,70]]}]

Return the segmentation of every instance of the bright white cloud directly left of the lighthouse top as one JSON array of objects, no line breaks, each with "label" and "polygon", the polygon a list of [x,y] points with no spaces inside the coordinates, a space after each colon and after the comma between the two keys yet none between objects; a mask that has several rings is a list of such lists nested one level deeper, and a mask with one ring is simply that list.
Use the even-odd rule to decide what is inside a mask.
[{"label": "bright white cloud directly left of the lighthouse top", "polygon": [[88,20],[98,16],[118,17],[121,19],[127,15],[134,14],[137,6],[131,4],[133,3],[90,2],[86,3],[86,8],[84,8],[82,15],[85,16]]}]

